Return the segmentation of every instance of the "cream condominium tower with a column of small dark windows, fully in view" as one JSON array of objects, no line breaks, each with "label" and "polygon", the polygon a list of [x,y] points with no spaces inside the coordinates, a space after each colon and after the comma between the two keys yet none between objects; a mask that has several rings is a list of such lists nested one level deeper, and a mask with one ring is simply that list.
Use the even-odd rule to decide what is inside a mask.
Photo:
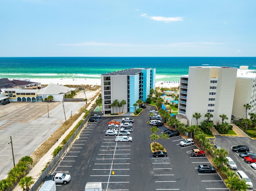
[{"label": "cream condominium tower with a column of small dark windows, fully in view", "polygon": [[237,68],[189,67],[188,75],[180,77],[178,114],[186,116],[189,125],[196,124],[193,115],[201,114],[198,125],[211,113],[214,124],[221,122],[225,114],[230,122],[236,86]]}]

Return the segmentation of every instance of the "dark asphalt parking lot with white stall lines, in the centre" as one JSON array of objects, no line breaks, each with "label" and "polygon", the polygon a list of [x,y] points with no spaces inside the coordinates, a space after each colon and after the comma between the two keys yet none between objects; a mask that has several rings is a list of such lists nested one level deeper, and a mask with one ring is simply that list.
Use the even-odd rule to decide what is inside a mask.
[{"label": "dark asphalt parking lot with white stall lines, in the centre", "polygon": [[[152,157],[151,126],[146,123],[151,109],[147,106],[140,116],[132,117],[135,122],[131,143],[116,143],[115,136],[104,136],[108,122],[115,117],[87,123],[52,171],[71,175],[70,183],[57,185],[57,190],[84,190],[87,182],[102,182],[103,189],[109,191],[228,190],[217,173],[197,171],[198,165],[210,162],[205,157],[191,158],[196,146],[181,147],[180,136],[164,142],[166,158]],[[165,128],[160,127],[158,134]],[[163,144],[161,139],[157,142]]]}]

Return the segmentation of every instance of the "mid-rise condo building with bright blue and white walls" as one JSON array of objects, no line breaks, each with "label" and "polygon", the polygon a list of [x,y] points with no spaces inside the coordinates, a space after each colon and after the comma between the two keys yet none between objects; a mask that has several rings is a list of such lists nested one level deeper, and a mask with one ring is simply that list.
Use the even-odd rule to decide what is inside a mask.
[{"label": "mid-rise condo building with bright blue and white walls", "polygon": [[[137,100],[146,102],[150,89],[155,89],[156,69],[133,68],[101,74],[102,108],[104,114],[134,112]],[[114,100],[124,106],[111,106]],[[138,106],[136,107],[138,108]]]}]

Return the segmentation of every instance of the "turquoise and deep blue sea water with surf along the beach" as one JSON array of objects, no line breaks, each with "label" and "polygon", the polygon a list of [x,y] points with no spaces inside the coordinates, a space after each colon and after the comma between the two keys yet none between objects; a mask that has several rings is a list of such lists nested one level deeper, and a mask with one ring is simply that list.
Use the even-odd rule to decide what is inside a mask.
[{"label": "turquoise and deep blue sea water with surf along the beach", "polygon": [[189,66],[249,66],[256,57],[0,57],[0,78],[100,78],[128,68],[156,68],[156,80],[179,81]]}]

